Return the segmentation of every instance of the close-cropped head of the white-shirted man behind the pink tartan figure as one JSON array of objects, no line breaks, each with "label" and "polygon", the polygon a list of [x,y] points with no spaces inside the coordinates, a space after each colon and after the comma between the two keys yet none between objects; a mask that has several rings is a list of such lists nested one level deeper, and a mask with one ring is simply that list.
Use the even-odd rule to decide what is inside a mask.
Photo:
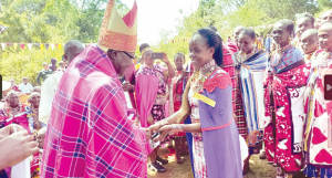
[{"label": "close-cropped head of the white-shirted man behind the pink tartan figure", "polygon": [[68,64],[73,61],[84,50],[83,44],[80,41],[71,40],[64,44],[64,60]]}]

